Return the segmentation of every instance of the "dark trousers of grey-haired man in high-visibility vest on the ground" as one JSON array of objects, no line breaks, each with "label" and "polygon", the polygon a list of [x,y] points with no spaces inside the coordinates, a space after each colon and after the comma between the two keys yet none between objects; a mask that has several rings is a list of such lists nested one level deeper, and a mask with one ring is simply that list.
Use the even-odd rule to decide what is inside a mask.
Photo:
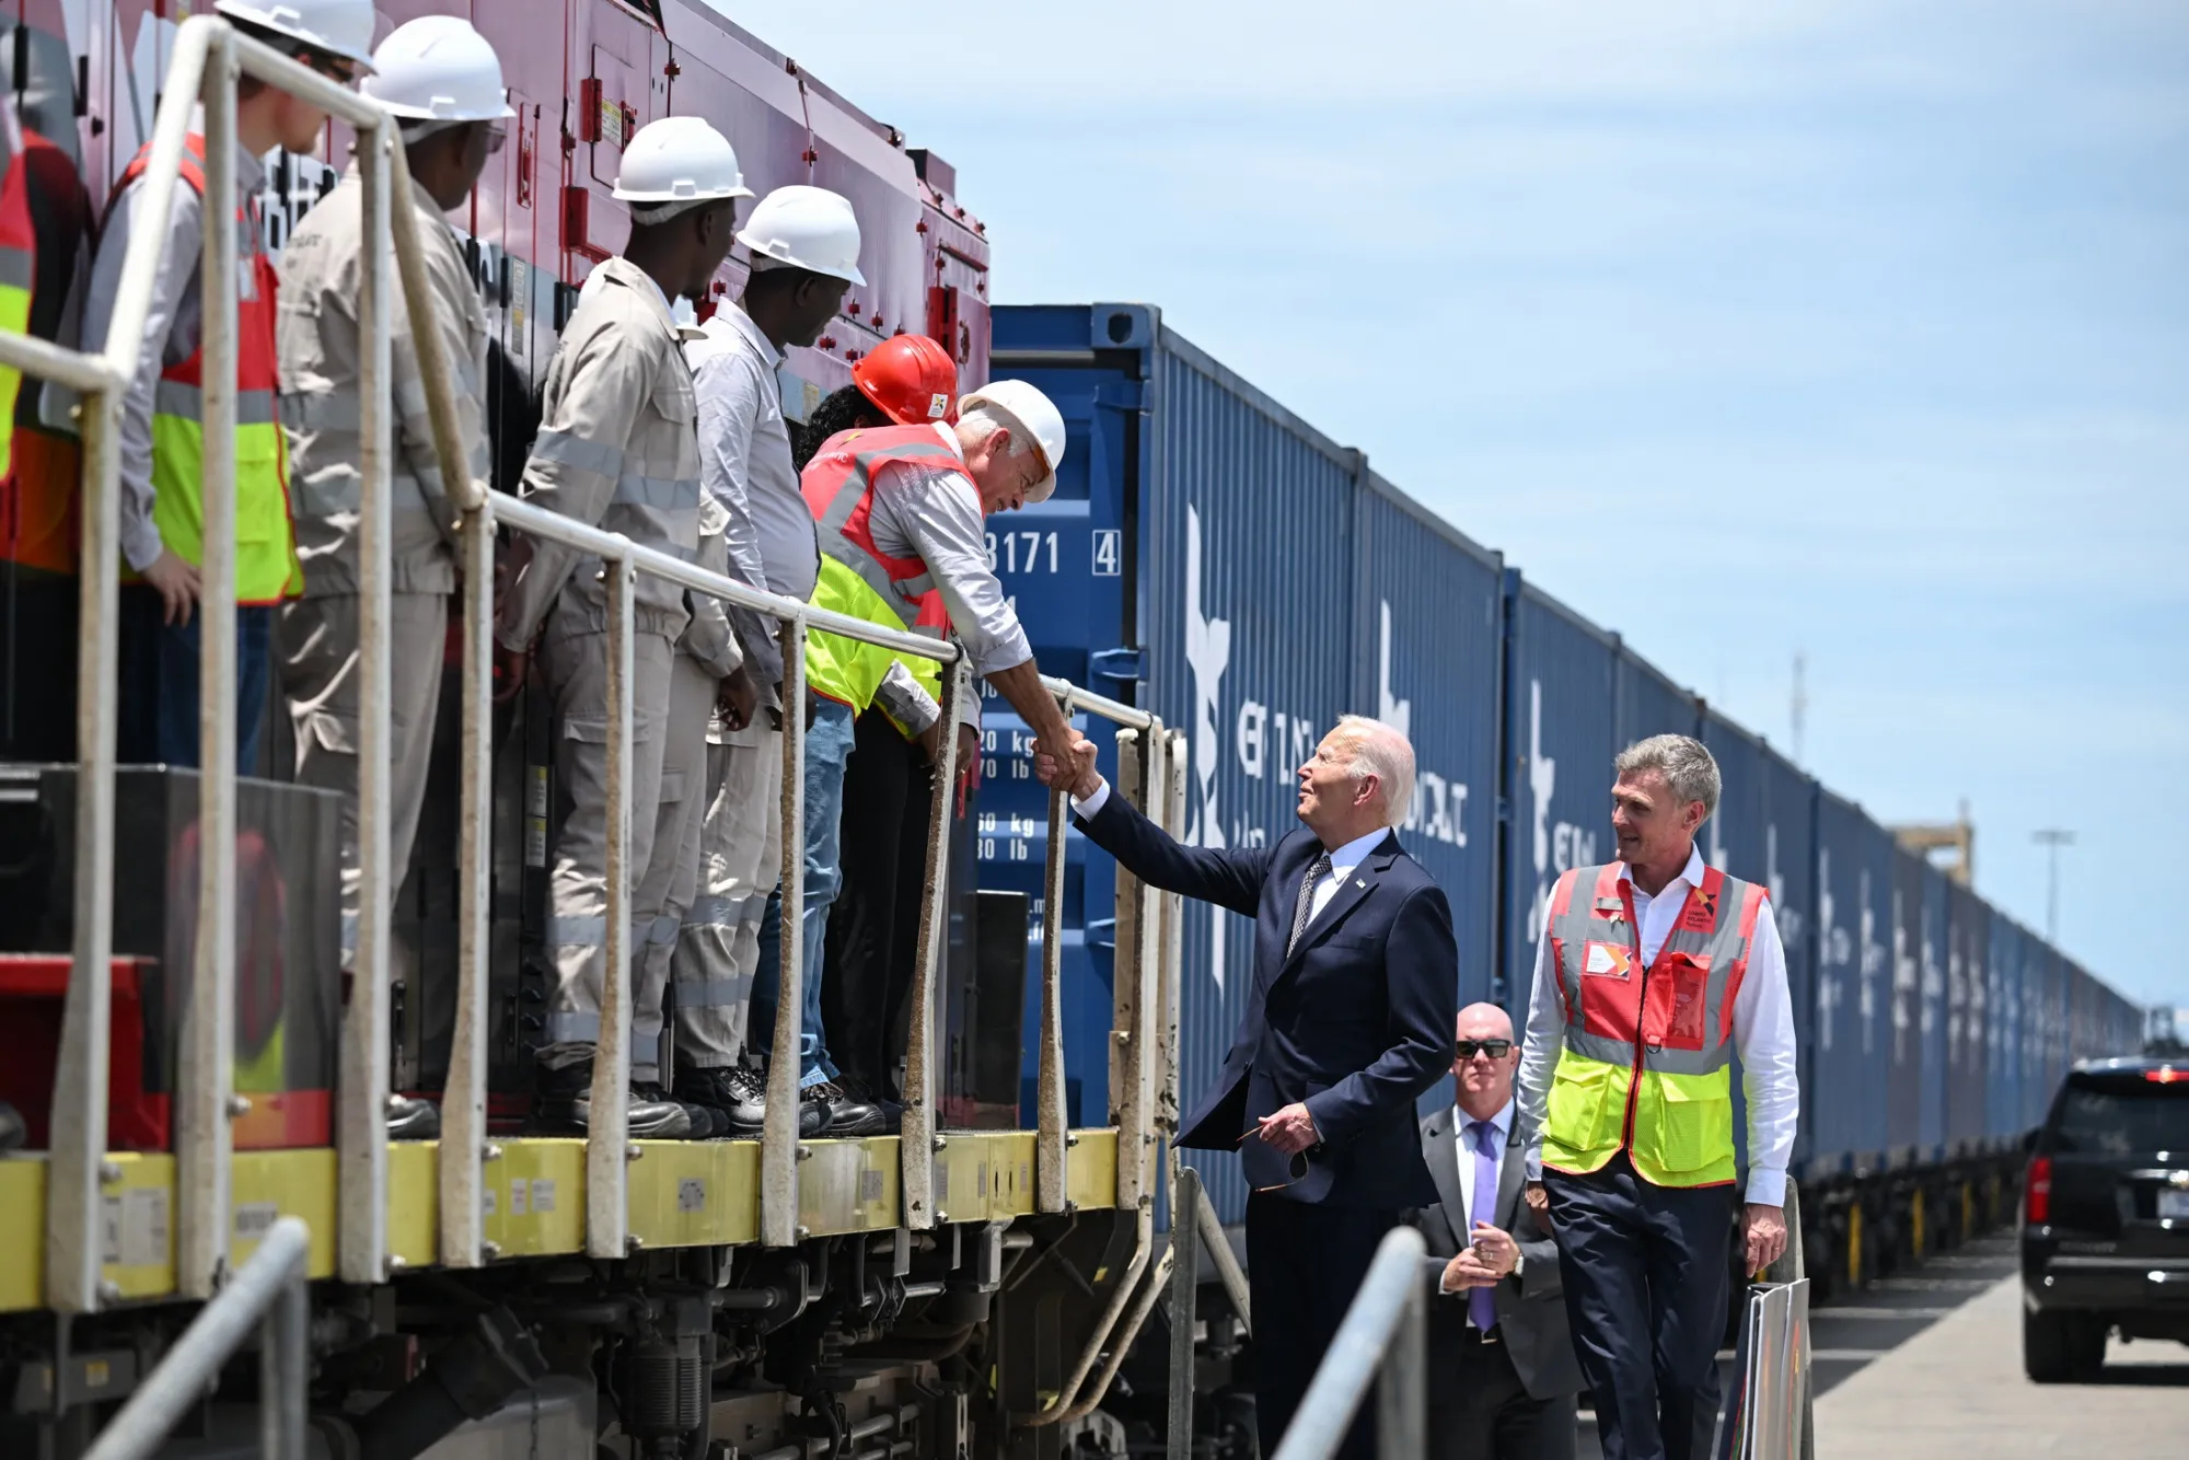
[{"label": "dark trousers of grey-haired man in high-visibility vest on the ground", "polygon": [[1543,1171],[1605,1460],[1705,1460],[1718,1421],[1734,1186],[1653,1186],[1624,1151]]}]

